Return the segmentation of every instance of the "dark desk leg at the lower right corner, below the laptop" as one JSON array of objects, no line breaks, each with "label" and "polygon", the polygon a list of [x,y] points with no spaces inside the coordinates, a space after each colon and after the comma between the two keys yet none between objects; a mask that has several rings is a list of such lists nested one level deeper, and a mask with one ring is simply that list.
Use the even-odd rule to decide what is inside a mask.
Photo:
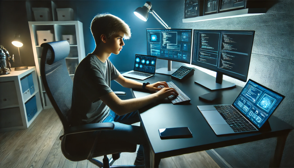
[{"label": "dark desk leg at the lower right corner, below the laptop", "polygon": [[270,165],[269,167],[280,167],[280,163],[281,163],[281,159],[283,156],[283,151],[284,151],[284,147],[285,147],[285,143],[286,143],[286,139],[288,137],[288,134],[285,134],[284,136],[281,137],[277,137],[277,146],[275,149],[275,154],[272,157],[272,159],[270,159]]}]

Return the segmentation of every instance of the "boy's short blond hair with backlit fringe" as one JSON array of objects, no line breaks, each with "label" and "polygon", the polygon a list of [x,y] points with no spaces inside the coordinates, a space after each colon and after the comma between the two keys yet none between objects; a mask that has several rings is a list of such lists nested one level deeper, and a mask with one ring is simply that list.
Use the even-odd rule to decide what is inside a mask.
[{"label": "boy's short blond hair with backlit fringe", "polygon": [[101,35],[111,38],[114,34],[124,33],[123,39],[130,39],[131,29],[119,17],[109,13],[97,14],[91,22],[91,32],[97,44],[101,42]]}]

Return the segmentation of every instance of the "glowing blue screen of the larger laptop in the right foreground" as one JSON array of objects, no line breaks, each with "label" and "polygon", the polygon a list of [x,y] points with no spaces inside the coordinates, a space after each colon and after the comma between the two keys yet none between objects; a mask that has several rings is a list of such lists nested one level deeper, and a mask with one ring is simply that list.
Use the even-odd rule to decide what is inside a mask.
[{"label": "glowing blue screen of the larger laptop in the right foreground", "polygon": [[249,79],[233,105],[260,128],[283,98],[283,95]]}]

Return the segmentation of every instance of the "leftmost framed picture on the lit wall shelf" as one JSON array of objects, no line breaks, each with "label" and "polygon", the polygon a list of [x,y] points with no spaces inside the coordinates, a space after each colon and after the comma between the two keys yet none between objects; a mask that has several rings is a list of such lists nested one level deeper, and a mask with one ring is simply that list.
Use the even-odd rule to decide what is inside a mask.
[{"label": "leftmost framed picture on the lit wall shelf", "polygon": [[199,1],[200,0],[185,0],[185,19],[199,16]]}]

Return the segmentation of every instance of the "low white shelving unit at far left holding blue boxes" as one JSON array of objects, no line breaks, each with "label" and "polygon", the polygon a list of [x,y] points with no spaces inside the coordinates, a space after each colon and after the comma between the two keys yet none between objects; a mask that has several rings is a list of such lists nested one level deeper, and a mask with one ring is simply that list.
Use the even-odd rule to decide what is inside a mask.
[{"label": "low white shelving unit at far left holding blue boxes", "polygon": [[[25,99],[21,79],[29,74],[32,74],[35,91]],[[14,68],[11,68],[10,74],[1,75],[0,93],[0,132],[28,128],[43,110],[35,66],[29,66],[28,69],[21,71],[14,71]],[[28,121],[25,103],[34,96],[37,112]]]}]

